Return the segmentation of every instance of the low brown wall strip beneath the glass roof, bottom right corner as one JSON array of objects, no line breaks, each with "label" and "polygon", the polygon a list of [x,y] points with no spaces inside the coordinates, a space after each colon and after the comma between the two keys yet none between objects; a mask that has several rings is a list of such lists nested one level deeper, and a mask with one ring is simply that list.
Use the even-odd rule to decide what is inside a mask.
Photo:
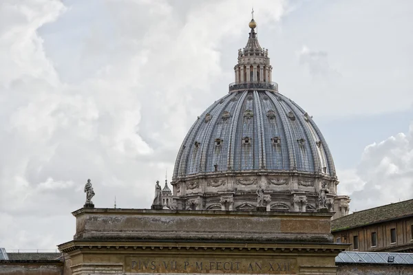
[{"label": "low brown wall strip beneath the glass roof, bottom right corner", "polygon": [[339,265],[337,275],[408,275],[413,265]]}]

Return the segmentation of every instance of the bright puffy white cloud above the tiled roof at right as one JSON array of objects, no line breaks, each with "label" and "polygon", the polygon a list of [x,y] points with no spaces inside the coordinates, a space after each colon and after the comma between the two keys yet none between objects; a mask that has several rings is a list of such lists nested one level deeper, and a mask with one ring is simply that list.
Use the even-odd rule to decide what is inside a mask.
[{"label": "bright puffy white cloud above the tiled roof at right", "polygon": [[413,122],[399,133],[364,149],[357,169],[338,172],[339,193],[350,195],[351,210],[413,198]]}]

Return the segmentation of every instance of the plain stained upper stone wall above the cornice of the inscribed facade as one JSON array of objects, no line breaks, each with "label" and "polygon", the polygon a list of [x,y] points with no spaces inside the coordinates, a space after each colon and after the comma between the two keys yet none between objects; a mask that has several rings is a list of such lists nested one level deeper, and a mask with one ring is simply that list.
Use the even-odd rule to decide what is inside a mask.
[{"label": "plain stained upper stone wall above the cornice of the inscribed facade", "polygon": [[330,213],[81,209],[74,240],[333,243]]}]

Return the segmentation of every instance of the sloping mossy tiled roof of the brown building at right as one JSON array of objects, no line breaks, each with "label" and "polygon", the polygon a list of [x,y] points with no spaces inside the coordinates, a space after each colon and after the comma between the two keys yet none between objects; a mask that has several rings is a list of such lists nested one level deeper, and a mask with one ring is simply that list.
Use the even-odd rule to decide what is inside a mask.
[{"label": "sloping mossy tiled roof of the brown building at right", "polygon": [[413,199],[354,212],[339,219],[334,219],[331,221],[331,231],[348,230],[408,216],[413,216]]}]

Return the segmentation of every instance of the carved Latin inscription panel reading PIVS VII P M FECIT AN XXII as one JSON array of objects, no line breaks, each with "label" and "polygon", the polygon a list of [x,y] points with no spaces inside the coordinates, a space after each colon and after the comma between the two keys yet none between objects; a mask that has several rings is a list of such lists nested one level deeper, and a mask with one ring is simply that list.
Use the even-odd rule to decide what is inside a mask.
[{"label": "carved Latin inscription panel reading PIVS VII P M FECIT AN XXII", "polygon": [[130,273],[240,273],[295,274],[295,259],[235,261],[233,259],[142,259],[127,257],[126,272]]}]

